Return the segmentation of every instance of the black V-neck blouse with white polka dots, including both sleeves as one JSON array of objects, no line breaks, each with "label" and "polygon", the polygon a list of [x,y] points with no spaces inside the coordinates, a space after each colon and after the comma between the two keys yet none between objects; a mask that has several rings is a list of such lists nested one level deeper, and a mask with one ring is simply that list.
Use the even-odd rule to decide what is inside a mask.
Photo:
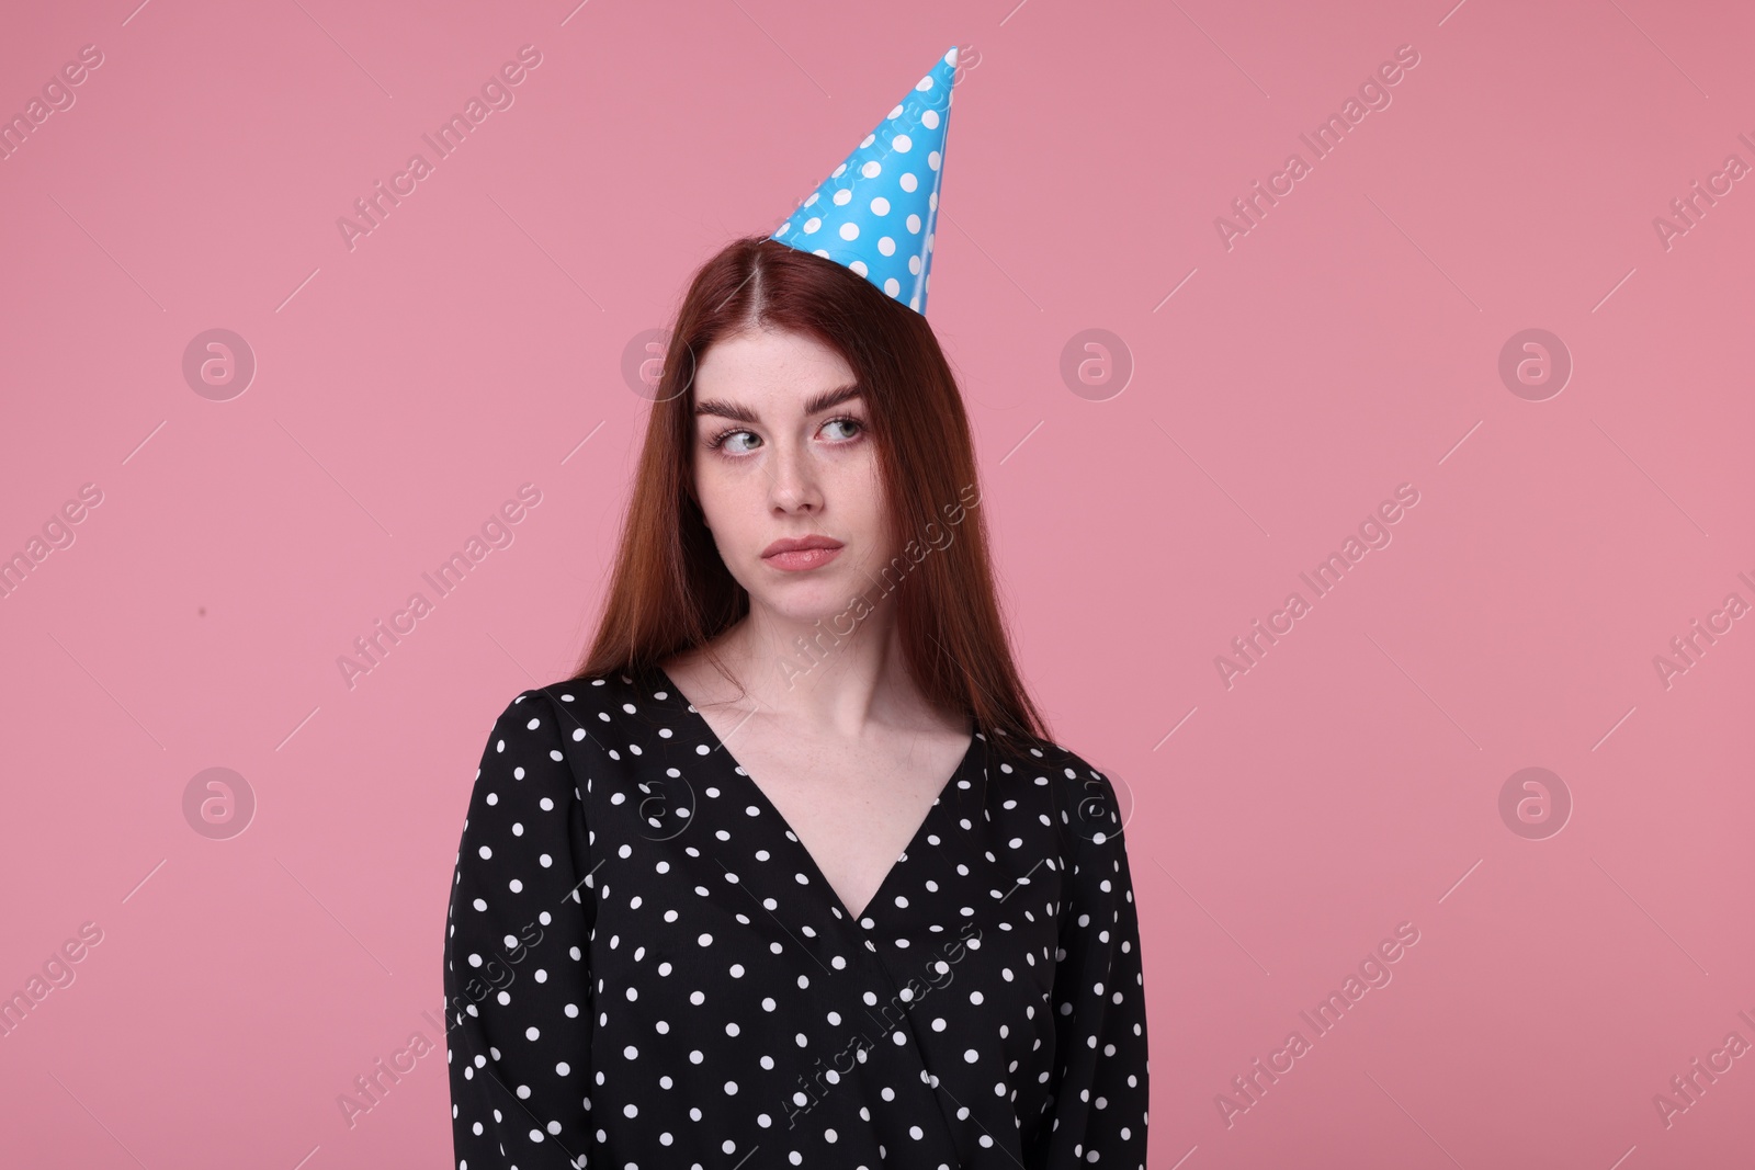
[{"label": "black V-neck blouse with white polka dots, including both sleeves", "polygon": [[458,1170],[1146,1165],[1107,777],[976,735],[855,919],[662,672],[493,726],[444,944]]}]

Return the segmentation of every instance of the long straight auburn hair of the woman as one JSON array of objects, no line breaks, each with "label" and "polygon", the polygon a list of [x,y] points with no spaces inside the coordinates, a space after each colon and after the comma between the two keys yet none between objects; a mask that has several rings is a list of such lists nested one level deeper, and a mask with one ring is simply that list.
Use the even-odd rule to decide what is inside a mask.
[{"label": "long straight auburn hair of the woman", "polygon": [[[979,496],[969,498],[978,491],[969,417],[939,339],[865,277],[767,237],[727,244],[677,309],[597,635],[572,679],[644,674],[706,647],[749,612],[749,593],[720,558],[695,496],[693,382],[718,340],[763,326],[816,339],[858,379],[899,549],[885,577],[899,575],[890,586],[897,631],[921,695],[971,716],[995,747],[1021,751],[1006,742],[1020,735],[1048,740],[995,600]],[[941,547],[935,533],[946,528],[953,533]],[[925,549],[918,563],[909,547]]]}]

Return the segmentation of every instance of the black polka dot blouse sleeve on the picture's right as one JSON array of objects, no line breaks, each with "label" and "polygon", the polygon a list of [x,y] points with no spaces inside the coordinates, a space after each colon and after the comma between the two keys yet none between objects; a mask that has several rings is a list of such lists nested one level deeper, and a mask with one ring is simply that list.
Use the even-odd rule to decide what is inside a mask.
[{"label": "black polka dot blouse sleeve on the picture's right", "polygon": [[1114,788],[1076,756],[1055,965],[1053,1170],[1146,1170],[1146,988]]}]

